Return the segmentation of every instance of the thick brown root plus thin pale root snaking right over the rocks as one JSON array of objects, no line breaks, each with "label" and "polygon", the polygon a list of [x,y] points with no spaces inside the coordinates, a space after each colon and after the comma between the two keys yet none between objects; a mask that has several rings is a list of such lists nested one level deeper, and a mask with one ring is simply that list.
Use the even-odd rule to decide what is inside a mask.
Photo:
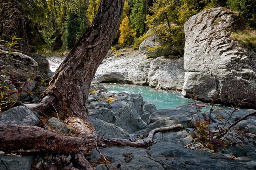
[{"label": "thick brown root plus thin pale root snaking right over the rocks", "polygon": [[[152,139],[156,131],[183,128],[181,124],[159,127],[150,131],[145,141],[131,142],[127,139],[104,139],[98,135],[94,136],[92,135],[93,127],[79,118],[72,117],[66,123],[69,127],[75,129],[75,134],[63,135],[31,125],[0,124],[0,148],[6,153],[39,152],[43,150],[62,154],[81,154],[89,153],[97,146],[105,145],[148,147],[154,142]],[[78,157],[80,158],[80,156]]]}]

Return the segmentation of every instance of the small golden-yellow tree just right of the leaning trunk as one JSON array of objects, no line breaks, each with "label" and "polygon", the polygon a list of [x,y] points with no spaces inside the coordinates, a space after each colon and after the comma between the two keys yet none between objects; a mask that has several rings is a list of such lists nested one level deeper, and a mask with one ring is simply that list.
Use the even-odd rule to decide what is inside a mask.
[{"label": "small golden-yellow tree just right of the leaning trunk", "polygon": [[136,33],[134,32],[130,24],[131,23],[128,16],[125,16],[125,18],[122,20],[122,23],[119,27],[120,37],[118,39],[118,43],[120,45],[124,45],[124,44],[130,45],[130,43],[132,42],[133,38],[136,35]]}]

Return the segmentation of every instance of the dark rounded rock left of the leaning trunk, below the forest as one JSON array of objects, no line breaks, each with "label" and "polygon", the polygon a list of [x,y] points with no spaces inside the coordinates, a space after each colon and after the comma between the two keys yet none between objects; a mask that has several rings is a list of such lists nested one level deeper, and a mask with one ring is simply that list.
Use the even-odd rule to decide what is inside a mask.
[{"label": "dark rounded rock left of the leaning trunk, below the forest", "polygon": [[31,54],[30,57],[32,57],[38,63],[38,70],[40,72],[45,74],[50,72],[50,65],[46,57],[40,54]]}]

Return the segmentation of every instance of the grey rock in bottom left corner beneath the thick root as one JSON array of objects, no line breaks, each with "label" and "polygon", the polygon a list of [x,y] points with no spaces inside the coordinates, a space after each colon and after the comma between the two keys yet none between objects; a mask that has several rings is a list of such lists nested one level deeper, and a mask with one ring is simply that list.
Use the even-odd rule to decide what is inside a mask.
[{"label": "grey rock in bottom left corner beneath the thick root", "polygon": [[33,160],[34,156],[32,155],[12,156],[0,154],[0,170],[30,170]]}]

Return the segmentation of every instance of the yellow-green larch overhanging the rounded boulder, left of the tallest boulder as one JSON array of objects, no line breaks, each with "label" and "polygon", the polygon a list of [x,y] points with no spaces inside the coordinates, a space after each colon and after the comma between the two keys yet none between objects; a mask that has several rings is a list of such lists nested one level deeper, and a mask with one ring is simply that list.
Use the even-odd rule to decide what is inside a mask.
[{"label": "yellow-green larch overhanging the rounded boulder, left of the tallest boulder", "polygon": [[173,48],[183,53],[185,35],[183,25],[194,14],[196,2],[193,0],[154,0],[147,15],[146,23],[160,39],[169,41]]}]

